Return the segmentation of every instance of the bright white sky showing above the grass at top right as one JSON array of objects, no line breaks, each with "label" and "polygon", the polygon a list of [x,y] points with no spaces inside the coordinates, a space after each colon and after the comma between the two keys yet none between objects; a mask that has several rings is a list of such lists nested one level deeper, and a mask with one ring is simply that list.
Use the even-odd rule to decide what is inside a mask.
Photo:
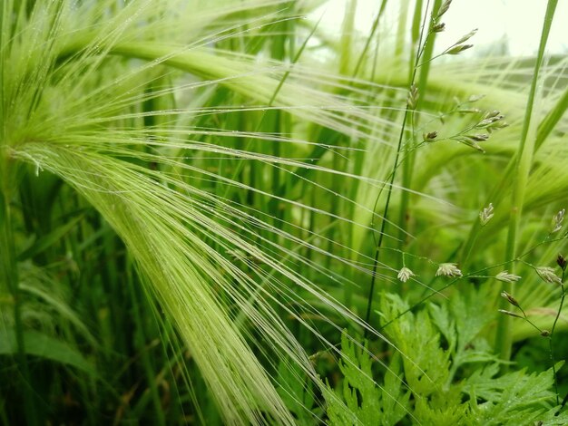
[{"label": "bright white sky showing above the grass at top right", "polygon": [[[322,24],[335,28],[334,32],[340,34],[347,1],[329,0],[312,16],[317,20],[323,15]],[[381,3],[380,0],[357,1],[356,27],[361,34],[368,34]],[[405,3],[404,0],[391,0],[382,24],[396,26],[397,8]],[[410,3],[409,20],[414,13],[413,2]],[[426,0],[424,3],[426,5]],[[534,55],[538,50],[546,3],[545,0],[454,0],[441,20],[446,23],[446,31],[436,36],[436,51],[454,44],[462,35],[478,28],[477,34],[467,42],[475,47],[465,53],[475,55],[475,48],[478,52],[487,51],[492,44],[506,37],[508,53],[514,56]],[[556,7],[547,53],[568,54],[568,0],[560,0]]]}]

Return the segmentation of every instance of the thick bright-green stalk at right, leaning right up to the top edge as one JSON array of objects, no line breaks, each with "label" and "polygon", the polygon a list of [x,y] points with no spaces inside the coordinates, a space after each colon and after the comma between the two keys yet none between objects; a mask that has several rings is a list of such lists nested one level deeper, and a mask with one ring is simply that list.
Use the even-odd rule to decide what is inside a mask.
[{"label": "thick bright-green stalk at right, leaning right up to the top edge", "polygon": [[[511,213],[509,218],[509,229],[507,234],[507,243],[505,249],[505,260],[514,259],[516,257],[516,240],[519,232],[520,221],[523,215],[523,204],[526,184],[528,182],[529,173],[533,165],[533,155],[536,141],[536,121],[533,117],[534,103],[536,99],[537,83],[539,71],[541,69],[544,50],[548,40],[548,34],[553,24],[554,10],[558,0],[549,0],[546,6],[546,15],[544,16],[543,33],[541,35],[540,45],[536,62],[534,63],[533,80],[531,82],[531,90],[529,92],[526,110],[524,111],[523,131],[521,132],[521,140],[519,150],[514,165],[515,177],[513,198],[511,202]],[[514,274],[514,264],[511,264],[512,274]],[[507,293],[512,292],[512,283],[504,283],[502,290]],[[502,308],[505,309],[507,301],[501,302]],[[511,346],[513,344],[513,334],[511,334],[511,318],[508,315],[501,315],[497,325],[497,334],[495,348],[498,348],[502,359],[509,360],[511,358]]]}]

